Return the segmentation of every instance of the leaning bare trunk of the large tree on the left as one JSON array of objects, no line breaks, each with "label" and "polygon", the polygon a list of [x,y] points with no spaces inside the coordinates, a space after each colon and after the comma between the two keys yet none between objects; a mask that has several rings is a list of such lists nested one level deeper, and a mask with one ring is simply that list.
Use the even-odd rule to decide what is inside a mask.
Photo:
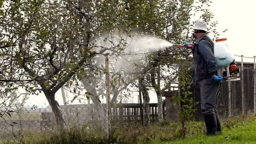
[{"label": "leaning bare trunk of the large tree on the left", "polygon": [[55,115],[57,125],[60,128],[65,128],[66,123],[63,117],[63,113],[61,112],[61,109],[59,107],[59,103],[58,101],[55,100],[55,94],[51,92],[44,92],[44,93]]}]

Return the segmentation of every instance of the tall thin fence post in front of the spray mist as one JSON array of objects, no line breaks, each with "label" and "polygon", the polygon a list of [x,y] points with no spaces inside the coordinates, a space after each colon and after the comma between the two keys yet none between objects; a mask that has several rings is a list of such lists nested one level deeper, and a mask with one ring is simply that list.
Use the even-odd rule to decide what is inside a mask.
[{"label": "tall thin fence post in front of the spray mist", "polygon": [[106,89],[107,89],[107,114],[108,114],[108,138],[111,137],[111,107],[110,107],[110,83],[109,83],[109,53],[105,54],[106,64]]}]

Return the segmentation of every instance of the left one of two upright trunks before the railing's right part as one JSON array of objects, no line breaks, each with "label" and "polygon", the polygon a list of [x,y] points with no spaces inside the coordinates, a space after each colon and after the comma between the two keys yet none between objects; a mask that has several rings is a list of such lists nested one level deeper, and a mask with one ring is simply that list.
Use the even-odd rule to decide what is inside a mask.
[{"label": "left one of two upright trunks before the railing's right part", "polygon": [[140,87],[143,96],[143,125],[150,125],[149,93],[145,86],[144,78],[140,79]]}]

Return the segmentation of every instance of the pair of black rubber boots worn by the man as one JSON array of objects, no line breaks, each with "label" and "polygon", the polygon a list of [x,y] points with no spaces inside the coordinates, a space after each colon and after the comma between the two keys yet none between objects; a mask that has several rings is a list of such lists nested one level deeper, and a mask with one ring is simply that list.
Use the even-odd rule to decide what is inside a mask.
[{"label": "pair of black rubber boots worn by the man", "polygon": [[208,114],[204,115],[205,118],[205,126],[206,126],[206,135],[207,136],[215,136],[217,131],[217,122],[216,122],[216,115]]}]

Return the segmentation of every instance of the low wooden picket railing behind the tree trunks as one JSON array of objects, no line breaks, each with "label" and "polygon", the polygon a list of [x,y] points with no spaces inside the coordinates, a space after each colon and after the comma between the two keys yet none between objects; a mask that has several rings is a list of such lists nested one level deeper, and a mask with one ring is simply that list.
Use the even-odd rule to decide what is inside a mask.
[{"label": "low wooden picket railing behind the tree trunks", "polygon": [[[103,104],[103,108],[106,107],[106,104]],[[76,104],[76,105],[66,105],[60,106],[60,108],[65,112],[67,123],[80,123],[87,124],[91,123],[91,120],[95,114],[94,108],[91,104]],[[111,121],[112,123],[116,122],[125,122],[125,121],[141,121],[142,120],[142,104],[116,104],[111,108]],[[157,121],[157,104],[149,104],[150,111],[150,120]],[[107,111],[102,110],[101,115],[107,116]],[[163,104],[163,114],[165,116],[165,104]],[[106,117],[101,117],[102,120]],[[42,113],[42,119],[46,123],[53,122],[55,123],[55,117],[52,112],[44,112]]]}]

